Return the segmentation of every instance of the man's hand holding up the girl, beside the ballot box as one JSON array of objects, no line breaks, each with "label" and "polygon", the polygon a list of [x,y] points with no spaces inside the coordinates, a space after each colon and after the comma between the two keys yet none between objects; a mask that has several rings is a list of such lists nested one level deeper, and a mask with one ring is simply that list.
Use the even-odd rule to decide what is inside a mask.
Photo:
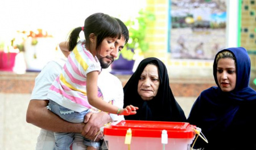
[{"label": "man's hand holding up the girl, beside the ballot box", "polygon": [[[87,139],[94,140],[97,136],[97,132],[100,131],[100,128],[109,122],[113,122],[113,120],[110,118],[109,114],[105,112],[88,113],[85,115],[84,123],[86,124],[81,134]],[[99,134],[96,141],[101,138],[102,135]]]}]

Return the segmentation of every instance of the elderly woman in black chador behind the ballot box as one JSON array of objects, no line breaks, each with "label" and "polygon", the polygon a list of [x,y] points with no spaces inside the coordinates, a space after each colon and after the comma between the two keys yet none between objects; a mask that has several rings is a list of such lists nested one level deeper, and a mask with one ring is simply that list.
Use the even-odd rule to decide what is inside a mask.
[{"label": "elderly woman in black chador behind the ballot box", "polygon": [[172,94],[167,68],[157,58],[146,58],[123,88],[124,106],[134,105],[137,114],[128,120],[187,121],[183,110]]}]

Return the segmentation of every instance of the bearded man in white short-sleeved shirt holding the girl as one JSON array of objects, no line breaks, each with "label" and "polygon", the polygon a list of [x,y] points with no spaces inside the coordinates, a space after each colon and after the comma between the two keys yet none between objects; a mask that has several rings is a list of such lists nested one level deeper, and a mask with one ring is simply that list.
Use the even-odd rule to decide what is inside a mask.
[{"label": "bearded man in white short-sleeved shirt holding the girl", "polygon": [[[117,54],[129,40],[129,31],[121,20],[117,19],[122,27],[122,37],[115,42],[115,49],[105,58],[100,58],[102,68],[108,68],[117,57]],[[112,59],[110,62],[109,59]],[[64,60],[49,62],[35,79],[35,87],[32,91],[31,100],[28,104],[26,121],[42,128],[38,136],[36,150],[51,150],[55,144],[53,132],[76,132],[85,138],[94,140],[95,134],[108,122],[124,119],[122,115],[107,114],[105,112],[89,113],[85,116],[85,123],[70,123],[64,121],[51,111],[47,110],[47,91],[53,80],[59,75],[64,65]],[[100,87],[104,100],[113,100],[119,108],[123,107],[123,89],[120,80],[111,75],[106,70],[98,77],[98,87]],[[79,136],[76,136],[79,137]],[[99,140],[102,138],[100,134]],[[85,149],[80,138],[75,138],[73,150]]]}]

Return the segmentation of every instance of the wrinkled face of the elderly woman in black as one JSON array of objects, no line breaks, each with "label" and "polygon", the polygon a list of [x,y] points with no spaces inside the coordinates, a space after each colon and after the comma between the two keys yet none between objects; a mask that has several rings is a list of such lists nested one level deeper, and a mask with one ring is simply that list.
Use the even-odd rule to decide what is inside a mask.
[{"label": "wrinkled face of the elderly woman in black", "polygon": [[142,100],[152,100],[158,93],[159,84],[158,67],[151,64],[147,65],[138,83],[138,93]]}]

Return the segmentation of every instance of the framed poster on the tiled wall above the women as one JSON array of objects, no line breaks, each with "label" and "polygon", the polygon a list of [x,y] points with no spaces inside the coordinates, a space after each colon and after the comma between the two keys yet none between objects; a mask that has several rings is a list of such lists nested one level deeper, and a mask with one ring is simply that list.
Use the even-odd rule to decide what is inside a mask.
[{"label": "framed poster on the tiled wall above the women", "polygon": [[171,57],[214,59],[226,44],[226,1],[170,1]]}]

